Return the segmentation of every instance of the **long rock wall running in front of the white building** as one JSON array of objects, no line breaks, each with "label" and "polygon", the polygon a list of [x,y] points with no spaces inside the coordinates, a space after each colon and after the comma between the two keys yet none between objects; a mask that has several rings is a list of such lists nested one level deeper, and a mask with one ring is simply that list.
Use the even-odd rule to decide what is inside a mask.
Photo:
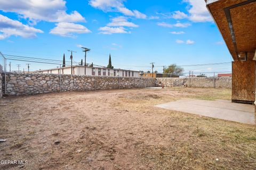
[{"label": "long rock wall running in front of the white building", "polygon": [[145,87],[155,87],[155,79],[6,73],[6,94],[17,96],[45,94],[58,91]]}]

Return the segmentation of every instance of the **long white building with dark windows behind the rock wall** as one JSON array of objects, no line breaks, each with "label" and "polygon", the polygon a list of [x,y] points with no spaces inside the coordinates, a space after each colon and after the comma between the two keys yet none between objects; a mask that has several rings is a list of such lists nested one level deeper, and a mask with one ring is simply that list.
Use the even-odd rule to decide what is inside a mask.
[{"label": "long white building with dark windows behind the rock wall", "polygon": [[[48,70],[39,70],[34,73],[41,74],[71,74],[71,66],[48,69]],[[74,75],[85,75],[85,67],[82,65],[72,66],[72,74]],[[140,77],[139,71],[132,70],[122,70],[122,69],[108,69],[106,67],[91,67],[86,66],[86,75],[92,76],[109,76],[109,77]]]}]

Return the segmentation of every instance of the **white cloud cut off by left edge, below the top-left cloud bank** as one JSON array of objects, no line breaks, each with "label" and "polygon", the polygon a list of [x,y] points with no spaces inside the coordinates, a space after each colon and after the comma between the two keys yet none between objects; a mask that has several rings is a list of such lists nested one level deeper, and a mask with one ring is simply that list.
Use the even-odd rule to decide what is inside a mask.
[{"label": "white cloud cut off by left edge, below the top-left cloud bank", "polygon": [[0,39],[5,39],[10,36],[21,36],[24,38],[35,38],[36,33],[43,33],[42,30],[28,25],[22,24],[19,21],[12,20],[0,14]]}]

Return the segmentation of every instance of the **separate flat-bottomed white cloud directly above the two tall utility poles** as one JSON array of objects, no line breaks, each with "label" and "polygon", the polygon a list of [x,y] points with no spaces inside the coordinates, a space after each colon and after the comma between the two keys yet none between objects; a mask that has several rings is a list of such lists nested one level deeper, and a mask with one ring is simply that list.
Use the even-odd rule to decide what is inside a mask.
[{"label": "separate flat-bottomed white cloud directly above the two tall utility poles", "polygon": [[75,37],[74,33],[90,33],[91,31],[81,24],[60,22],[55,24],[56,27],[53,28],[50,33],[59,35],[62,37]]}]

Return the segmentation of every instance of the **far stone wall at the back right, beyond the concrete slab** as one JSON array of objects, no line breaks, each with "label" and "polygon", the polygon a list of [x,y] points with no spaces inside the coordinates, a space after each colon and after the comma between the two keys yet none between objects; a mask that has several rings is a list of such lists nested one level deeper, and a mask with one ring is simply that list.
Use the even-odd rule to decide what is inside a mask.
[{"label": "far stone wall at the back right, beyond the concrete slab", "polygon": [[186,84],[188,87],[231,88],[232,78],[156,78],[156,84],[158,84],[158,86],[163,84],[164,87],[176,87]]}]

